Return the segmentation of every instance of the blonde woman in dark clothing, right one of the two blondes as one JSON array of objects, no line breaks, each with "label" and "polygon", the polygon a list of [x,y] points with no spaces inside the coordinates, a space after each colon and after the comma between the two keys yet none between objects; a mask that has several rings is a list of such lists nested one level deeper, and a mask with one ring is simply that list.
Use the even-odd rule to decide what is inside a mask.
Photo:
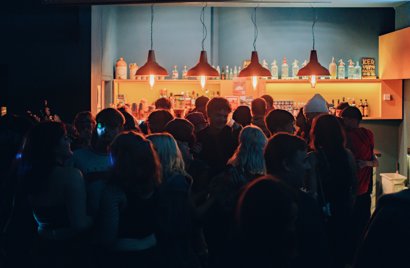
[{"label": "blonde woman in dark clothing, right one of the two blondes", "polygon": [[243,128],[239,146],[228,160],[228,167],[212,180],[203,215],[211,265],[219,265],[225,254],[234,230],[235,207],[241,189],[266,174],[263,154],[266,144],[266,136],[259,127]]}]

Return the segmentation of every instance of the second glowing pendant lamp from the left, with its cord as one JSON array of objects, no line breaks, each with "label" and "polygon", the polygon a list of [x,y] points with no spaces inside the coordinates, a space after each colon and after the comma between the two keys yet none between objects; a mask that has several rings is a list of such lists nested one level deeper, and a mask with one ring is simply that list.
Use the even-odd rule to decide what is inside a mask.
[{"label": "second glowing pendant lamp from the left, with its cord", "polygon": [[200,20],[202,23],[202,36],[203,36],[202,51],[201,51],[201,54],[199,55],[198,63],[194,67],[189,69],[187,72],[187,76],[189,77],[199,77],[202,89],[205,89],[207,77],[218,77],[219,76],[218,71],[208,63],[208,57],[204,49],[204,42],[208,34],[206,26],[205,26],[205,8],[206,8],[206,5],[202,7],[201,17],[200,17]]}]

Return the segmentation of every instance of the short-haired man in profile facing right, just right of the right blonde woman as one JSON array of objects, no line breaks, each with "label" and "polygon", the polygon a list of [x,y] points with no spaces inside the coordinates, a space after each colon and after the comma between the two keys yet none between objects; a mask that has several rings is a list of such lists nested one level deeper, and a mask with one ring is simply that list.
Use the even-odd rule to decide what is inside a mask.
[{"label": "short-haired man in profile facing right, just right of the right blonde woman", "polygon": [[298,196],[298,255],[290,267],[330,267],[324,223],[319,206],[303,192],[307,161],[307,145],[297,136],[278,133],[272,136],[265,149],[267,173],[288,184]]}]

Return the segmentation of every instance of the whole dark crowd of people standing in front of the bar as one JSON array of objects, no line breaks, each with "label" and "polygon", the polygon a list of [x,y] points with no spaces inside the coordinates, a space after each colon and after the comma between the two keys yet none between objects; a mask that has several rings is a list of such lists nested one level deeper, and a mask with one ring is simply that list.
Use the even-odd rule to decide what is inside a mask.
[{"label": "whole dark crowd of people standing in front of the bar", "polygon": [[[155,106],[141,124],[127,106],[0,119],[2,267],[402,264],[389,246],[409,247],[410,196],[371,218],[378,161],[358,108],[331,115],[319,94],[296,118],[270,96],[235,111],[202,96],[185,118]],[[396,221],[407,236],[388,235]]]}]

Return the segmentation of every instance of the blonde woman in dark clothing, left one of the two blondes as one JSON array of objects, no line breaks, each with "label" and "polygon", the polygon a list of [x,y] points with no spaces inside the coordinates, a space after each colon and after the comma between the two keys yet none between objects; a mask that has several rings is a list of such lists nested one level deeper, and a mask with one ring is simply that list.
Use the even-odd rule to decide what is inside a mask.
[{"label": "blonde woman in dark clothing, left one of the two blondes", "polygon": [[175,139],[168,133],[148,135],[162,165],[162,185],[158,191],[158,250],[160,267],[199,267],[191,245],[193,236],[192,178]]}]

